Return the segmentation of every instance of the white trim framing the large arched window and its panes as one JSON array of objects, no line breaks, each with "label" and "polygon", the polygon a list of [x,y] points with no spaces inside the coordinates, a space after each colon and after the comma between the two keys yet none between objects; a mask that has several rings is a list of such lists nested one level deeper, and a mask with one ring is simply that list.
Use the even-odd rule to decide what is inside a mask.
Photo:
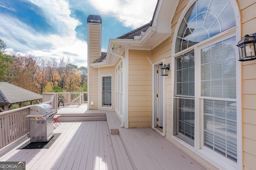
[{"label": "white trim framing the large arched window and its panes", "polygon": [[[241,22],[240,22],[240,10],[238,8],[238,4],[235,0],[229,0],[233,10],[234,10],[234,15],[236,18],[236,26],[227,29],[213,37],[210,37],[209,39],[206,39],[200,43],[197,43],[196,45],[193,45],[192,47],[189,47],[183,51],[180,51],[178,53],[175,53],[174,50],[172,50],[172,67],[171,68],[175,68],[175,58],[187,53],[188,51],[191,51],[192,49],[194,49],[194,53],[195,56],[198,56],[198,53],[200,54],[200,49],[202,49],[204,46],[207,47],[210,45],[211,42],[214,41],[221,41],[221,37],[225,36],[224,39],[228,39],[228,36],[230,34],[234,34],[234,36],[236,36],[236,42],[239,41],[240,37],[241,37]],[[173,34],[173,39],[172,39],[172,49],[175,49],[176,47],[176,38],[177,38],[177,34],[178,34],[178,30],[179,30],[179,26],[182,23],[182,20],[184,18],[184,16],[186,15],[186,13],[188,12],[189,8],[192,6],[192,4],[194,4],[194,2],[196,2],[196,0],[191,0],[188,2],[188,4],[186,5],[186,7],[182,10],[182,14],[180,15],[180,18],[178,20],[178,23],[176,25],[176,28],[174,30],[174,34]],[[232,37],[232,36],[230,36]],[[214,44],[214,43],[212,43]],[[238,49],[236,49],[236,59],[238,59]],[[196,66],[195,68],[195,74],[196,72],[200,72],[201,67]],[[175,81],[174,79],[175,77],[175,70],[172,70],[172,82]],[[200,76],[197,76],[197,79],[195,77],[195,87],[198,87],[201,83],[200,80],[198,80],[198,78],[200,79]],[[208,152],[206,152],[205,150],[201,149],[202,147],[202,141],[201,139],[203,137],[201,134],[200,129],[203,128],[203,123],[202,123],[202,117],[198,116],[198,114],[195,114],[195,145],[194,147],[191,147],[188,143],[185,143],[184,141],[178,139],[177,137],[175,137],[172,134],[172,139],[174,139],[175,141],[177,141],[178,143],[182,144],[184,147],[186,147],[187,149],[191,150],[192,152],[194,152],[195,154],[198,154],[199,156],[201,156],[202,158],[204,158],[205,160],[207,160],[208,162],[210,162],[211,164],[213,164],[216,167],[220,167],[220,168],[242,168],[243,164],[242,164],[242,101],[241,101],[241,97],[242,97],[242,90],[240,88],[241,84],[241,64],[236,62],[236,92],[237,92],[237,96],[236,96],[236,101],[237,101],[237,163],[235,162],[231,162],[231,164],[226,163],[225,161],[223,161],[221,158],[219,158],[219,156],[213,156],[212,154],[209,154]],[[201,85],[200,85],[201,87]],[[175,83],[172,83],[172,91],[175,88]],[[199,99],[200,96],[198,96],[198,93],[195,94],[195,98],[196,100]],[[202,111],[203,105],[200,105],[200,102],[196,102],[195,103],[195,112],[196,113],[200,113],[200,111]],[[172,92],[172,111],[174,113],[174,94]],[[174,114],[172,114],[172,133],[174,132],[174,123],[175,123],[175,116]],[[198,125],[198,121],[199,121],[199,125]],[[198,139],[199,138],[199,139]],[[213,156],[213,157],[211,157]],[[228,160],[228,158],[226,158]],[[230,160],[231,161],[231,160]],[[234,164],[232,164],[234,163]]]}]

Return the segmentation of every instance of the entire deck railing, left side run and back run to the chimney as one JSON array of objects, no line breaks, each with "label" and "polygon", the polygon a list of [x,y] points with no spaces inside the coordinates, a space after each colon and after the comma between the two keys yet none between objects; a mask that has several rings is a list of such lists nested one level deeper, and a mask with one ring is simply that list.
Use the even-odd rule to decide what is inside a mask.
[{"label": "entire deck railing, left side run and back run to the chimney", "polygon": [[[58,97],[64,96],[64,105],[87,103],[87,92],[43,93],[43,103],[58,111]],[[0,154],[30,133],[30,106],[0,113]]]}]

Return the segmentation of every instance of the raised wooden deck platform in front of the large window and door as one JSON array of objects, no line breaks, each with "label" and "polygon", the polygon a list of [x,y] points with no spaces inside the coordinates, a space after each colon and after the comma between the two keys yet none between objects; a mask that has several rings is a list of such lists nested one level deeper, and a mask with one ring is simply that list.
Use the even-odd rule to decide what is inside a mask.
[{"label": "raised wooden deck platform in front of the large window and door", "polygon": [[[138,169],[206,170],[151,128],[119,129],[131,162]],[[158,151],[156,151],[157,149]],[[163,161],[164,160],[164,161]]]}]

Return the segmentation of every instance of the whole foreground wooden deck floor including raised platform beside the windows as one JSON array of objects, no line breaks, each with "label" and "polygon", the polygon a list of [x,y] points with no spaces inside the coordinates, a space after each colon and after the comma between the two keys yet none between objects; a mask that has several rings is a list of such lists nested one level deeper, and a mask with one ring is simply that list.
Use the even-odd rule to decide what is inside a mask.
[{"label": "whole foreground wooden deck floor including raised platform beside the windows", "polygon": [[[26,139],[0,155],[0,161],[25,161],[27,170],[206,169],[151,128],[124,129],[114,112],[86,112],[104,112],[108,121],[60,122],[54,133],[61,135],[49,149],[17,149]],[[119,134],[111,135],[110,127]]]}]

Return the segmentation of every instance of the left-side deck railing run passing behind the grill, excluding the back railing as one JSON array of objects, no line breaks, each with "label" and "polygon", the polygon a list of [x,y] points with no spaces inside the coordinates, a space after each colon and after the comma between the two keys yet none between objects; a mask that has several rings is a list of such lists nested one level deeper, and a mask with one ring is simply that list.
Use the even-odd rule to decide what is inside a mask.
[{"label": "left-side deck railing run passing behind the grill, excluding the back railing", "polygon": [[[57,110],[56,95],[48,95],[46,104],[50,104]],[[30,133],[30,106],[20,107],[0,113],[0,154],[10,147],[14,146],[23,137],[29,136]]]}]

